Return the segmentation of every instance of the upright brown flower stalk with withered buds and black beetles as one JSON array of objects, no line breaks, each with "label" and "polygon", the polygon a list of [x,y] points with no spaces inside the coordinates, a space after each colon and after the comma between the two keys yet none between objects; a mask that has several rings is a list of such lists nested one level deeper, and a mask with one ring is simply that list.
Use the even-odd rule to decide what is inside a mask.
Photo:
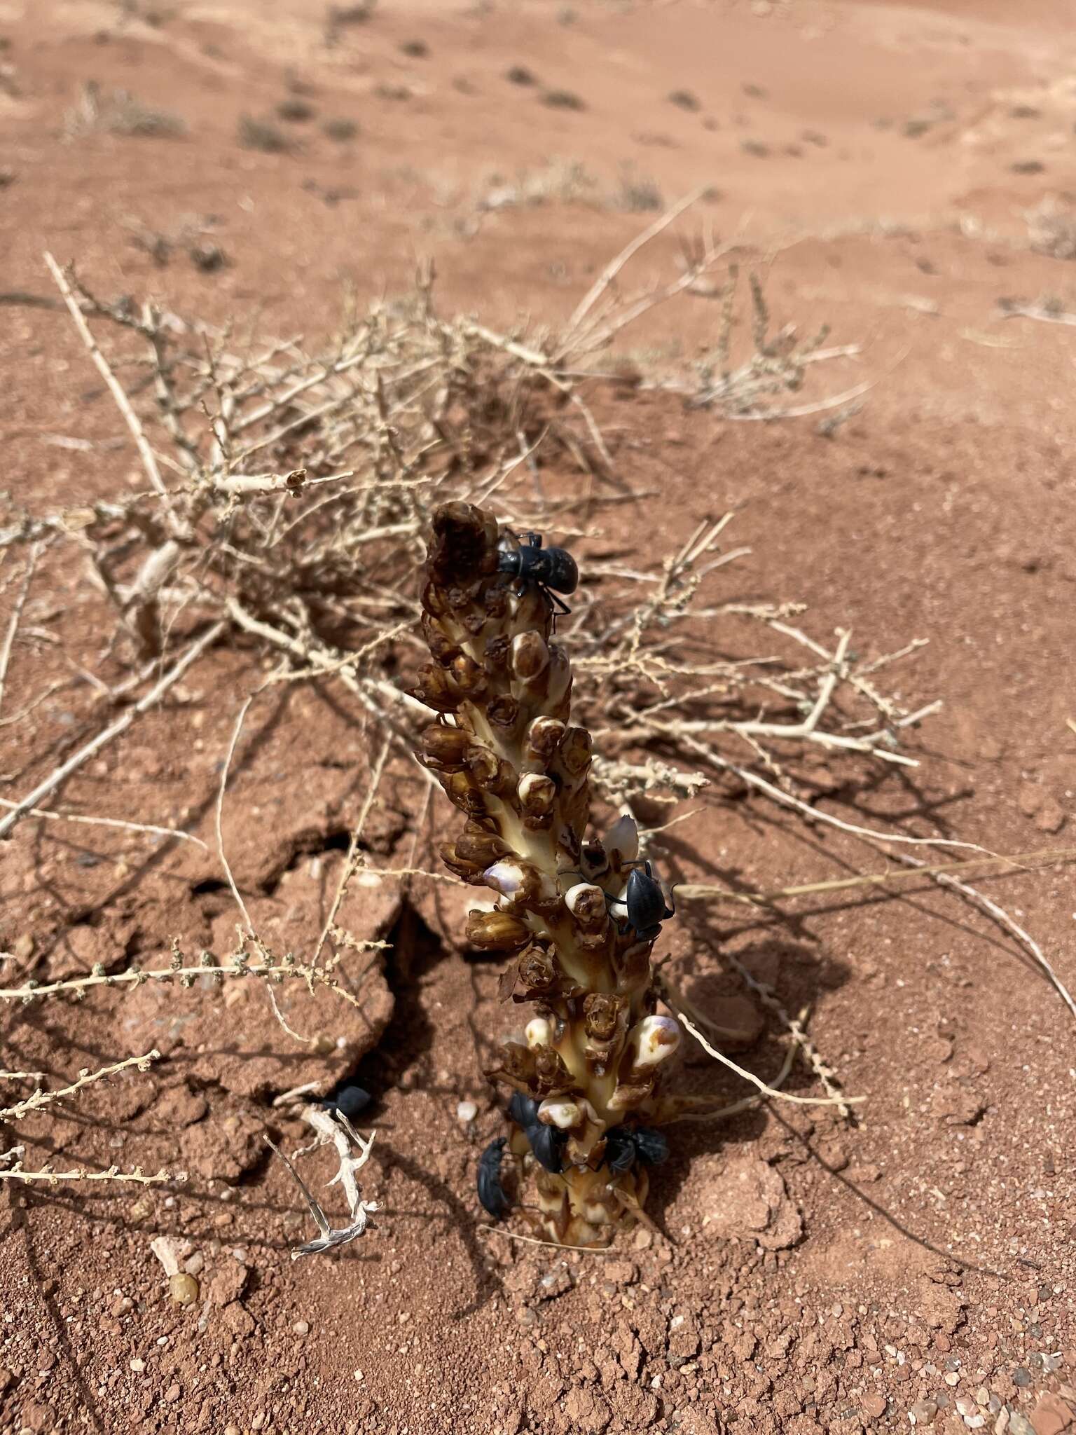
[{"label": "upright brown flower stalk with withered buds and black beetles", "polygon": [[[422,588],[432,662],[415,692],[440,715],[423,761],[466,817],[442,855],[486,890],[468,940],[509,954],[501,997],[532,1012],[486,1075],[514,1093],[508,1145],[534,1181],[537,1224],[581,1246],[646,1201],[646,1162],[664,1154],[646,1121],[680,1027],[656,1013],[650,953],[667,900],[638,862],[634,821],[584,842],[591,739],[570,723],[571,666],[545,588],[529,568],[522,581],[501,571],[518,547],[481,508],[438,509]],[[498,1159],[483,1159],[489,1210],[506,1208]]]}]

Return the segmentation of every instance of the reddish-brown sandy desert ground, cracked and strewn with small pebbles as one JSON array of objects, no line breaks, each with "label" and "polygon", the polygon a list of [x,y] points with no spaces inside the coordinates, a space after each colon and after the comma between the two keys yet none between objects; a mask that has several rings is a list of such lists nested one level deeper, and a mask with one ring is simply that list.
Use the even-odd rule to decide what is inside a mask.
[{"label": "reddish-brown sandy desert ground, cracked and strewn with small pebbles", "polygon": [[[654,497],[591,551],[653,557],[737,508],[752,555],[729,596],[803,598],[816,631],[851,623],[879,653],[930,639],[900,673],[908,702],[945,700],[921,733],[921,768],[869,786],[822,772],[831,809],[1000,852],[1065,848],[1069,7],[351,9],[333,20],[304,0],[0,3],[4,488],[47,508],[113,492],[133,465],[50,307],[46,248],[102,296],[154,294],[281,336],[329,333],[349,294],[397,293],[428,258],[443,309],[557,323],[660,208],[700,188],[640,278],[674,271],[679,237],[702,225],[750,245],[778,323],[828,323],[831,343],[859,346],[812,402],[871,387],[854,412],[826,410],[842,419],[828,432],[826,413],[765,425],[654,395],[613,403],[617,461]],[[139,102],[142,128],[184,132],[110,131],[100,115],[116,90]],[[119,109],[129,119],[131,102]],[[623,356],[690,362],[716,323],[696,296],[648,316]],[[29,617],[55,624],[66,610],[75,647],[92,651],[93,601],[82,574],[47,571]],[[10,603],[9,591],[4,613]],[[10,712],[37,690],[36,663],[16,646]],[[214,653],[65,801],[208,837],[241,690],[234,654]],[[70,707],[0,728],[4,796],[83,730]],[[237,881],[255,920],[298,944],[334,888],[370,755],[347,715],[303,690],[267,710],[238,756],[225,818]],[[392,794],[369,837],[386,865],[410,852],[417,805],[403,776]],[[450,822],[435,812],[433,837]],[[862,847],[735,794],[670,837],[670,860],[681,877],[759,888],[877,870]],[[118,950],[149,961],[174,936],[227,947],[235,917],[220,878],[191,844],[154,851],[26,822],[3,850],[0,947],[17,970],[52,976]],[[1073,984],[1072,868],[986,890]],[[818,1049],[867,1104],[855,1124],[779,1106],[683,1128],[654,1182],[663,1234],[631,1233],[608,1254],[482,1230],[475,1162],[501,1116],[479,1069],[504,1016],[496,967],[459,950],[452,903],[419,885],[400,918],[393,891],[367,890],[349,920],[392,931],[396,950],[372,971],[364,1025],[334,1026],[296,999],[300,1030],[329,1022],[314,1048],[290,1042],[247,989],[0,1013],[0,1066],[53,1083],[148,1043],[164,1058],[3,1138],[57,1168],[189,1172],[172,1194],[0,1191],[3,1435],[1076,1428],[1072,1019],[981,910],[925,887],[746,918],[693,907],[670,924],[700,994],[750,1003],[722,963],[735,953],[789,1010],[809,1004]],[[746,1010],[753,1045],[739,1059],[770,1073],[780,1022],[759,1012],[756,1036]],[[308,1228],[261,1135],[298,1144],[273,1098],[347,1072],[377,1098],[367,1188],[384,1211],[343,1256],[291,1264]],[[694,1058],[687,1076],[742,1092]],[[806,1072],[799,1089],[816,1089]],[[461,1101],[476,1104],[473,1122],[458,1119]],[[189,1307],[169,1300],[149,1251],[159,1234],[189,1243]]]}]

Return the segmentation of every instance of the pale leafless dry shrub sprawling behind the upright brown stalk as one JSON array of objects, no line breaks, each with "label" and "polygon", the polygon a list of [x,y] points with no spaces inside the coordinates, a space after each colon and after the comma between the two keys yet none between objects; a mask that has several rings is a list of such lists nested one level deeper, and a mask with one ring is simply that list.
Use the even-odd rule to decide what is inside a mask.
[{"label": "pale leafless dry shrub sprawling behind the upright brown stalk", "polygon": [[[55,558],[70,550],[88,560],[113,614],[105,653],[123,656],[131,677],[110,690],[118,716],[6,805],[0,837],[30,815],[47,815],[43,804],[75,772],[121,740],[225,640],[250,653],[251,690],[264,680],[270,657],[277,680],[339,686],[344,702],[380,729],[386,752],[410,753],[415,732],[429,719],[407,686],[419,654],[412,574],[432,509],[446,499],[495,504],[521,531],[552,530],[578,544],[605,505],[643,502],[595,416],[603,386],[624,383],[615,369],[610,373],[607,357],[598,360],[630,323],[654,304],[692,293],[727,258],[727,247],[687,251],[670,281],[620,291],[628,261],[684,207],[651,224],[607,265],[564,330],[531,334],[495,333],[466,316],[442,317],[429,276],[420,276],[410,297],[349,311],[337,334],[314,350],[296,340],[240,342],[149,303],[100,300],[49,258],[131,432],[145,482],[135,492],[65,511],[29,511],[7,497],[0,551],[24,554],[22,601],[46,551]],[[750,352],[733,363],[735,274],[720,293],[720,339],[703,370],[637,373],[637,385],[670,389],[732,418],[775,419],[848,400],[842,393],[793,409],[783,403],[812,363],[852,350],[801,343],[791,327],[769,339],[756,281]],[[125,387],[119,373],[139,376],[138,385]],[[584,474],[587,484],[574,491],[585,486],[585,497],[565,497],[572,489],[547,494],[542,466]],[[610,809],[631,811],[643,795],[674,801],[733,781],[868,839],[930,841],[819,817],[803,801],[798,773],[809,749],[829,758],[851,753],[858,762],[914,763],[902,739],[930,705],[907,710],[877,686],[877,674],[915,644],[868,660],[852,653],[848,633],[834,643],[811,637],[792,621],[795,603],[743,606],[723,598],[725,570],[742,552],[725,547],[727,519],[702,525],[644,570],[584,561],[584,585],[562,637],[578,674],[581,720],[605,753],[594,771],[600,799]],[[22,601],[0,639],[0,693]],[[723,656],[737,646],[737,624],[765,630],[763,659]],[[32,696],[23,715],[39,700]],[[296,773],[297,785],[301,781]],[[360,827],[362,817],[356,832]],[[232,893],[242,907],[234,884]],[[729,895],[719,888],[693,893]],[[198,970],[176,951],[161,971],[102,970],[40,987],[32,950],[4,959],[0,999],[30,1003],[92,994],[108,984],[185,984]],[[273,982],[296,976],[311,989],[346,994],[329,964],[318,964],[317,956],[306,964],[275,956],[248,920],[240,950],[227,961],[208,954],[201,960],[218,982],[245,977],[271,990]],[[32,1178],[13,1170],[14,1149],[0,1158],[0,1177]]]}]

